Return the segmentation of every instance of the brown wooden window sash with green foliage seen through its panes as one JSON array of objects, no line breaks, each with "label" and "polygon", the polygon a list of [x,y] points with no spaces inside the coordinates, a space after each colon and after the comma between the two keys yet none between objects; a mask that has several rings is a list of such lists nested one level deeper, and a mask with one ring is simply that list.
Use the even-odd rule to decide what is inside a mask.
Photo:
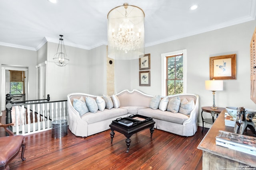
[{"label": "brown wooden window sash with green foliage seen through its panes", "polygon": [[167,57],[167,95],[183,93],[183,55]]}]

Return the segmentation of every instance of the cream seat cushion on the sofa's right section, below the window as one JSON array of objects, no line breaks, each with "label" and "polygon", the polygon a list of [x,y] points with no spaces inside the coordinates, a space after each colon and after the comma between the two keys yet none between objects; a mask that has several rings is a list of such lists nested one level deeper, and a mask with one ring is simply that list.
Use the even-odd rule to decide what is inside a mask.
[{"label": "cream seat cushion on the sofa's right section, below the window", "polygon": [[151,108],[140,109],[138,110],[138,114],[178,124],[182,124],[189,118],[188,115],[184,115],[182,113],[172,113],[170,111],[161,111],[160,109],[153,110]]}]

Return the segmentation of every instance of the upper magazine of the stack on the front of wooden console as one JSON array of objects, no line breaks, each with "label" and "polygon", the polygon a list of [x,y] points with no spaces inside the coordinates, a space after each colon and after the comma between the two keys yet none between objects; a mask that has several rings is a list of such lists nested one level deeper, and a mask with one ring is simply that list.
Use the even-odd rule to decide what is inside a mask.
[{"label": "upper magazine of the stack on the front of wooden console", "polygon": [[252,136],[219,131],[218,136],[216,136],[216,144],[217,142],[228,143],[237,147],[256,151],[256,137]]}]

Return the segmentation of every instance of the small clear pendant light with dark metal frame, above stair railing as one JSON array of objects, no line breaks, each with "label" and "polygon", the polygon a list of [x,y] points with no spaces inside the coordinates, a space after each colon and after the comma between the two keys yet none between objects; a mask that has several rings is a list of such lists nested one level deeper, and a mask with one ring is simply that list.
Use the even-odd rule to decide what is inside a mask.
[{"label": "small clear pendant light with dark metal frame, above stair railing", "polygon": [[[58,66],[66,66],[69,61],[62,37],[63,35],[60,35],[60,41],[59,41],[57,53],[53,57],[55,64],[57,64]],[[60,51],[59,51],[59,47],[60,47]]]}]

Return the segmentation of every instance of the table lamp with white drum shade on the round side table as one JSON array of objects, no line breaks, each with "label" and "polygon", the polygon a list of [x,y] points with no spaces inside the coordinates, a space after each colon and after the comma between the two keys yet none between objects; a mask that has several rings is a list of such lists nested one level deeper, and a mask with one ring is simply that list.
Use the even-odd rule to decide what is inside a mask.
[{"label": "table lamp with white drum shade on the round side table", "polygon": [[213,80],[206,80],[205,81],[205,89],[212,91],[213,105],[212,105],[211,108],[212,109],[218,109],[215,106],[215,92],[223,90],[223,80],[214,80],[214,79]]}]

